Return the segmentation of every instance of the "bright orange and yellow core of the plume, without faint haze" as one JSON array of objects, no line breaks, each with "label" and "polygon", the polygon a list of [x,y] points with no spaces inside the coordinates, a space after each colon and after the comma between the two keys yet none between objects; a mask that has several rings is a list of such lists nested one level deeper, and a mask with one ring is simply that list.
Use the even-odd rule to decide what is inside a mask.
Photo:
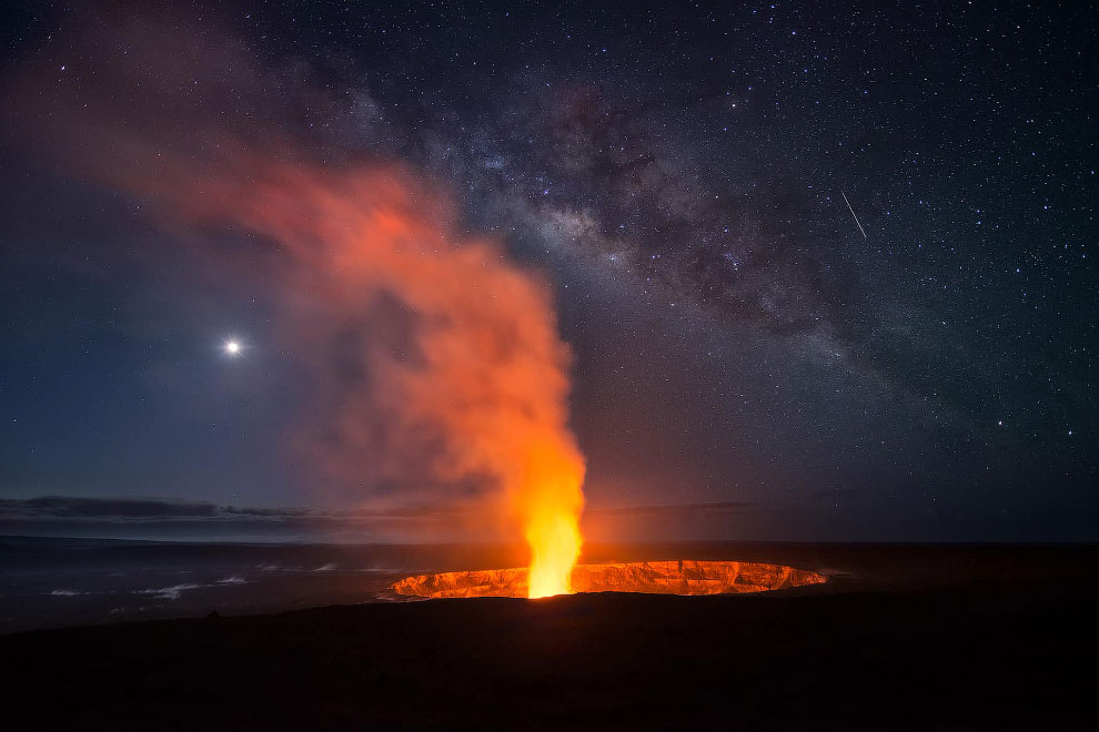
[{"label": "bright orange and yellow core of the plume, without faint haze", "polygon": [[498,482],[531,547],[531,597],[569,591],[584,460],[566,425],[569,356],[546,287],[495,243],[456,242],[445,213],[419,203],[427,192],[392,169],[283,165],[205,187],[219,214],[310,267],[325,298],[386,293],[407,308],[415,357],[371,348],[370,401],[391,436],[440,438],[435,478]]}]

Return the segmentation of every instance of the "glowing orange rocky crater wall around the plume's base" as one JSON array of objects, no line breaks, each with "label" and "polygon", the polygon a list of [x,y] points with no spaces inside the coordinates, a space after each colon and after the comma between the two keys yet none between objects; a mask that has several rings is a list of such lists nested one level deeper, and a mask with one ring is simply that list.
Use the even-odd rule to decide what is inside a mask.
[{"label": "glowing orange rocky crater wall around the plume's base", "polygon": [[[406,577],[392,586],[399,594],[421,598],[525,598],[525,567]],[[827,581],[824,575],[784,565],[747,561],[633,561],[577,565],[573,592],[649,594],[733,594],[784,590]]]}]

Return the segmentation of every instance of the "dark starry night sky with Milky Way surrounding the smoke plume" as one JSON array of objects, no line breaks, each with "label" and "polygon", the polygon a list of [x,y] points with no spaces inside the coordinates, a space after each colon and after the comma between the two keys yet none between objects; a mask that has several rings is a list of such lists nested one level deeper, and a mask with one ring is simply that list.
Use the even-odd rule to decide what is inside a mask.
[{"label": "dark starry night sky with Milky Way surrounding the smoke plume", "polygon": [[596,533],[1099,540],[1096,10],[669,4],[6,10],[0,514],[371,497],[288,447],[310,344],[211,257],[239,237],[180,245],[27,133],[141,109],[132,64],[397,161],[543,274]]}]

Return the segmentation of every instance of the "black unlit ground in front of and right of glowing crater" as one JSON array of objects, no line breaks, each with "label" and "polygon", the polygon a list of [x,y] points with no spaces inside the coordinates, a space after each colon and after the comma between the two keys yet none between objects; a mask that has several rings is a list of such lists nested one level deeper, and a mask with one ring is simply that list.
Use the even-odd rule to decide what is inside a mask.
[{"label": "black unlit ground in front of and right of glowing crater", "polygon": [[753,553],[834,580],[11,634],[3,714],[51,730],[1091,729],[1096,548]]}]

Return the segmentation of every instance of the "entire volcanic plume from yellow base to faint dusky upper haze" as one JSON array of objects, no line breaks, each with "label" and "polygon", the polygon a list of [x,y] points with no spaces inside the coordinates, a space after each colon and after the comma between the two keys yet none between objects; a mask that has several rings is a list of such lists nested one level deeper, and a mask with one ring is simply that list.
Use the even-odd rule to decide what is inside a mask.
[{"label": "entire volcanic plume from yellow base to faint dusky upper haze", "polygon": [[[286,329],[307,346],[309,455],[327,480],[498,516],[530,545],[530,597],[569,591],[584,459],[567,426],[571,354],[545,283],[500,243],[456,234],[446,196],[407,169],[346,162],[260,122],[285,114],[271,106],[285,94],[279,74],[253,69],[228,37],[174,24],[85,29],[87,65],[100,73],[30,80],[17,124],[186,237],[208,233],[210,261],[274,263]],[[339,116],[337,98],[300,93]],[[230,104],[248,109],[226,114]],[[259,250],[226,254],[240,232]],[[452,488],[440,497],[424,484]]]}]

